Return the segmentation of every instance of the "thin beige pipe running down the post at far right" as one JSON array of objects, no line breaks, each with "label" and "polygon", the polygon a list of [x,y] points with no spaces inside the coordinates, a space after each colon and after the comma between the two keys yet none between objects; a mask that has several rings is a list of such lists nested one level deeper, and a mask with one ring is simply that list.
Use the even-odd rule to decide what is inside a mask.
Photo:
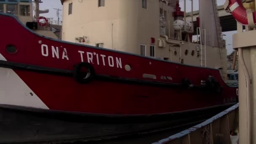
[{"label": "thin beige pipe running down the post at far right", "polygon": [[238,48],[238,59],[245,74],[246,82],[246,112],[247,112],[247,144],[251,144],[251,77],[245,65],[243,49]]}]

